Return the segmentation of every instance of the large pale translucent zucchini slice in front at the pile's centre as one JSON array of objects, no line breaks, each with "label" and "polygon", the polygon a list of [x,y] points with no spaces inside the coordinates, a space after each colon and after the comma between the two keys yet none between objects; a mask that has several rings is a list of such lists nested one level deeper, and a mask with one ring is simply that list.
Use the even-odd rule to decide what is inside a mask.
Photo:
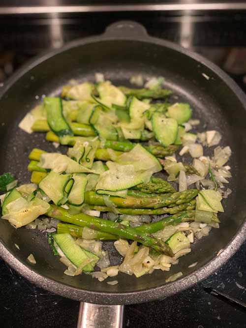
[{"label": "large pale translucent zucchini slice in front at the pile's centre", "polygon": [[133,165],[115,165],[100,176],[95,190],[125,190],[148,182],[152,174],[152,171],[136,171]]}]

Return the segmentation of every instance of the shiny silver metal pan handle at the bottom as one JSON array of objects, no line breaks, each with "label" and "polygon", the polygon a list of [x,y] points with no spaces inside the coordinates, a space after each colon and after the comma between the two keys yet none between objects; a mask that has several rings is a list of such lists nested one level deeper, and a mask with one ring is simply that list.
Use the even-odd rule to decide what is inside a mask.
[{"label": "shiny silver metal pan handle at the bottom", "polygon": [[80,303],[77,328],[123,328],[124,305]]}]

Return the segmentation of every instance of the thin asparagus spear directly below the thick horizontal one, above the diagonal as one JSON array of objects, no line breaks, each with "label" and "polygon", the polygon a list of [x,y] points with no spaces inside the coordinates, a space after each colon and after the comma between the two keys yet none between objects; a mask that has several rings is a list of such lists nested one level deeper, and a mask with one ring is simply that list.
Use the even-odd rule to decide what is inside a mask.
[{"label": "thin asparagus spear directly below the thick horizontal one, above the diagonal", "polygon": [[[163,207],[159,209],[125,209],[125,208],[117,208],[120,214],[128,214],[128,215],[161,215],[161,214],[177,214],[184,210],[192,210],[195,209],[196,200],[192,199],[190,202],[177,205],[173,208]],[[106,206],[90,206],[91,209],[99,210],[101,212],[112,212],[113,209]]]}]

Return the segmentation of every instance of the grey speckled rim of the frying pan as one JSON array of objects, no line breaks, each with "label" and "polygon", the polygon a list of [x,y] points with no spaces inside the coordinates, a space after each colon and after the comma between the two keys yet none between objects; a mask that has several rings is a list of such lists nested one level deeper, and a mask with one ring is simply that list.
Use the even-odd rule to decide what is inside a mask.
[{"label": "grey speckled rim of the frying pan", "polygon": [[[170,41],[158,39],[151,37],[149,35],[142,36],[117,36],[118,40],[128,40],[152,43],[166,48],[170,48],[174,51],[182,53],[189,58],[201,63],[210,70],[212,70],[215,75],[224,81],[224,83],[232,90],[232,92],[240,100],[242,106],[246,110],[246,95],[242,89],[217,65],[212,63],[210,60],[204,57],[182,48],[181,46],[172,43]],[[58,55],[64,51],[71,48],[83,46],[89,43],[96,43],[102,41],[116,41],[116,36],[107,35],[107,32],[101,35],[92,36],[89,38],[78,39],[67,43],[64,47],[58,50],[51,50],[44,52],[43,54],[29,60],[25,65],[19,68],[5,83],[5,85],[0,89],[0,99],[4,96],[7,90],[12,87],[24,74],[30,71],[35,66],[41,64],[44,60]],[[146,301],[151,301],[155,299],[163,299],[168,296],[174,295],[184,289],[193,286],[198,281],[205,279],[216,269],[221,267],[243,244],[246,240],[246,221],[242,223],[238,232],[235,234],[233,239],[231,239],[224,250],[218,256],[215,255],[206,265],[185,275],[174,282],[163,284],[154,288],[149,288],[140,291],[133,291],[127,293],[116,293],[116,292],[95,292],[84,289],[79,289],[76,287],[68,286],[66,284],[57,282],[51,278],[42,276],[41,274],[33,271],[27,265],[17,260],[6,245],[0,240],[0,254],[5,262],[7,262],[12,268],[14,268],[19,274],[23,275],[25,278],[35,283],[36,285],[49,290],[50,292],[56,293],[62,297],[71,298],[79,301],[86,301],[96,304],[133,304],[141,303]],[[109,287],[110,288],[110,287]]]}]

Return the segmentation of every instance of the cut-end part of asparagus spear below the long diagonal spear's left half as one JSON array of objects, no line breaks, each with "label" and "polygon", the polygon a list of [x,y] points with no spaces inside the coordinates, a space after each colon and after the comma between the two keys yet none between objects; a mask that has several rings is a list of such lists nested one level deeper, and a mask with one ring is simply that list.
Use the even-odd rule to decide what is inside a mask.
[{"label": "cut-end part of asparagus spear below the long diagonal spear's left half", "polygon": [[[74,224],[64,224],[64,223],[58,223],[57,225],[57,233],[58,234],[70,234],[74,237],[82,237],[83,228],[76,226]],[[94,236],[93,239],[99,239],[99,240],[117,240],[119,239],[118,236],[108,234],[106,232],[102,231],[96,231],[93,230]]]}]

